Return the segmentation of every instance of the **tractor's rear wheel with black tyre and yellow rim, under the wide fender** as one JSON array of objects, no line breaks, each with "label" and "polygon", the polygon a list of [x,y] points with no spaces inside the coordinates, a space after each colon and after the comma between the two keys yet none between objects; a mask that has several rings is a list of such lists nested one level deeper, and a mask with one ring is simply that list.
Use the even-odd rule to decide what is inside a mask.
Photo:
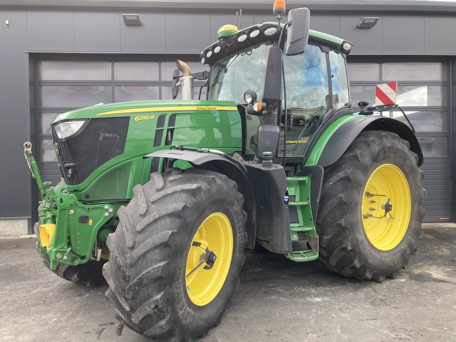
[{"label": "tractor's rear wheel with black tyre and yellow rim, under the wide fender", "polygon": [[[347,277],[382,281],[386,277],[396,278],[401,269],[407,268],[410,256],[416,254],[416,240],[422,235],[421,222],[426,213],[423,208],[426,197],[422,187],[424,174],[417,161],[418,156],[410,150],[409,143],[398,135],[363,131],[337,162],[325,168],[316,232],[320,237],[319,260],[328,269]],[[399,170],[399,178],[404,176],[404,188],[407,189],[408,184],[409,194],[404,192],[410,205],[404,204],[407,201],[403,197],[399,201],[399,195],[393,198],[389,194],[394,192],[394,185],[389,186],[394,184],[394,176],[391,181],[388,172],[381,172],[378,192],[383,191],[391,197],[391,214],[398,217],[366,218],[365,214],[383,215],[379,207],[376,210],[369,207],[385,203],[386,198],[369,197],[366,189],[372,183],[374,172],[385,166]],[[369,202],[371,199],[375,202]],[[406,207],[403,212],[400,212],[400,205]],[[408,214],[408,223],[405,220],[402,226],[396,224],[403,222],[399,220]],[[369,227],[372,224],[374,227]],[[377,235],[373,238],[369,229],[378,227],[386,228],[384,233],[375,232]],[[391,227],[394,229],[386,230]],[[402,233],[397,233],[397,229],[402,229]]]}]

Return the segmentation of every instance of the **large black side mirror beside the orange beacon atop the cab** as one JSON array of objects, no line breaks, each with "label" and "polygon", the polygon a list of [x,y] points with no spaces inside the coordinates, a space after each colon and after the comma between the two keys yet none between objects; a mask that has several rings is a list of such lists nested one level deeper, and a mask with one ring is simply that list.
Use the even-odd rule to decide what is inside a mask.
[{"label": "large black side mirror beside the orange beacon atop the cab", "polygon": [[306,51],[309,40],[311,12],[308,8],[297,8],[288,12],[289,26],[286,32],[286,55],[299,55]]}]

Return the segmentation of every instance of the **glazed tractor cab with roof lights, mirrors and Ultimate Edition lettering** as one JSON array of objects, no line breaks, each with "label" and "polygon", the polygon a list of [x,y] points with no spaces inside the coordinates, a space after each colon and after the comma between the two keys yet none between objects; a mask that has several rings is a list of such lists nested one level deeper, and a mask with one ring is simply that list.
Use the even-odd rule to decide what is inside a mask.
[{"label": "glazed tractor cab with roof lights, mirrors and Ultimate Edition lettering", "polygon": [[[210,66],[207,99],[233,101],[238,107],[242,158],[261,161],[270,151],[285,166],[303,162],[323,122],[341,109],[352,114],[345,61],[352,44],[309,30],[306,8],[290,11],[294,24],[280,24],[282,14],[276,15],[277,23],[242,30],[222,26],[219,41],[200,60]],[[183,81],[190,73],[183,73],[185,91]]]}]

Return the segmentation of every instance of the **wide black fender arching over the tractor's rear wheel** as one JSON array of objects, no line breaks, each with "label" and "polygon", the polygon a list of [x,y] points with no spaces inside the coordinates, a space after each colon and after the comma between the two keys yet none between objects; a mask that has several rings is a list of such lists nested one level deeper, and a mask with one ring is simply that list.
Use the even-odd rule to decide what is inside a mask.
[{"label": "wide black fender arching over the tractor's rear wheel", "polygon": [[317,164],[326,167],[336,162],[363,130],[384,130],[396,133],[401,139],[407,140],[410,150],[418,155],[418,166],[423,164],[423,152],[410,127],[398,120],[378,115],[360,116],[359,119],[349,120],[342,124],[329,138]]}]

